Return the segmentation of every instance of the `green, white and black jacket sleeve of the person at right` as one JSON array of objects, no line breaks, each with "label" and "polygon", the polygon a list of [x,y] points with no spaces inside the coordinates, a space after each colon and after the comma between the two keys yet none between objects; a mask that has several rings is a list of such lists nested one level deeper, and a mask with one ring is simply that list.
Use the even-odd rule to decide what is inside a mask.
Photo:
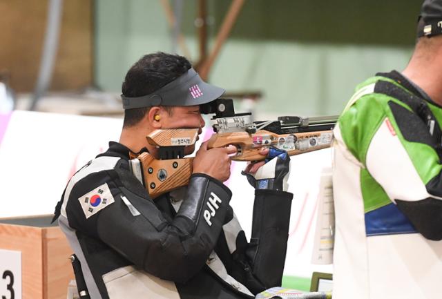
[{"label": "green, white and black jacket sleeve of the person at right", "polygon": [[[436,150],[440,146],[427,124],[405,104],[394,98],[384,97],[381,102],[380,96],[367,97],[345,113],[340,125],[346,144],[355,144],[350,151],[383,189],[363,188],[363,194],[379,197],[385,192],[416,231],[427,239],[442,240],[442,165]],[[370,126],[374,119],[377,125]]]}]

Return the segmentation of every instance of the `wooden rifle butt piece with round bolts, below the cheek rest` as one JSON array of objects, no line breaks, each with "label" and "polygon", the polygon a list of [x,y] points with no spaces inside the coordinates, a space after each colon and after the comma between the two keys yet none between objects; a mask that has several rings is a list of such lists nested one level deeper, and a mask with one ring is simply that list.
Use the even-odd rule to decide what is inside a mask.
[{"label": "wooden rifle butt piece with round bolts, below the cheek rest", "polygon": [[152,199],[189,184],[193,157],[156,160],[152,155],[142,153],[138,159],[142,164],[144,186]]}]

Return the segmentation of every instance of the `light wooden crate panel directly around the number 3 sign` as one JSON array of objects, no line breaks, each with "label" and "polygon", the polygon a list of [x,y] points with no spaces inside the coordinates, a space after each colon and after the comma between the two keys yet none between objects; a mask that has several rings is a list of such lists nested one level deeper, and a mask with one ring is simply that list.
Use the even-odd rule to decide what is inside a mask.
[{"label": "light wooden crate panel directly around the number 3 sign", "polygon": [[[43,299],[41,229],[0,224],[0,248],[21,251],[23,299]],[[65,296],[66,298],[66,296]]]}]

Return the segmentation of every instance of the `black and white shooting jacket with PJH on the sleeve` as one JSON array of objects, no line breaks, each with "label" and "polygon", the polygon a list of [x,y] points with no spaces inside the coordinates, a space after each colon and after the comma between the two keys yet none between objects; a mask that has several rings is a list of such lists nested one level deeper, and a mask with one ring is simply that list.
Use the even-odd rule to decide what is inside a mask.
[{"label": "black and white shooting jacket with PJH on the sleeve", "polygon": [[197,173],[151,200],[129,152],[111,142],[70,179],[56,212],[91,299],[253,298],[280,286],[291,193],[256,191],[247,242],[227,186]]}]

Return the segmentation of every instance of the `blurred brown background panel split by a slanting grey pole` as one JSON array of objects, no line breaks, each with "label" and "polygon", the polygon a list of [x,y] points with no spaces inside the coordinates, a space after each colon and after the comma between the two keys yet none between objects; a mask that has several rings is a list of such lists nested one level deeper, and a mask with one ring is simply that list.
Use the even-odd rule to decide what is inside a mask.
[{"label": "blurred brown background panel split by a slanting grey pole", "polygon": [[[0,0],[0,70],[16,91],[32,91],[44,44],[48,0]],[[93,80],[91,0],[64,1],[52,90],[88,86]]]}]

